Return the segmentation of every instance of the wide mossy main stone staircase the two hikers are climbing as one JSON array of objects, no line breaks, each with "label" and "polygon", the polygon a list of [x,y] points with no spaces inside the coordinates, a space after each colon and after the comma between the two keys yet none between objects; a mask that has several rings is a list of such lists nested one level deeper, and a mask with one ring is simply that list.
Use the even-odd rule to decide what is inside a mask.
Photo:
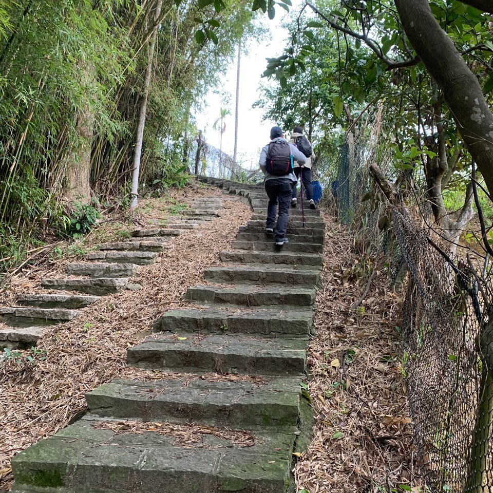
[{"label": "wide mossy main stone staircase the two hikers are climbing", "polygon": [[324,224],[310,211],[303,228],[291,211],[290,243],[276,250],[262,187],[207,181],[249,199],[253,220],[187,290],[189,308],[166,312],[128,349],[142,378],[87,393],[81,419],[12,459],[12,491],[294,491],[293,453],[311,439],[301,384]]}]

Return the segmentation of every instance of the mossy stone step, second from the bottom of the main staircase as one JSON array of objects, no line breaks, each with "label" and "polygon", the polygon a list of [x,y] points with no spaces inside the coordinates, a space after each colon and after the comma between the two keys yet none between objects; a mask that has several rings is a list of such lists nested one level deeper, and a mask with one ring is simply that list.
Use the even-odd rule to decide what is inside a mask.
[{"label": "mossy stone step, second from the bottom of the main staircase", "polygon": [[86,394],[91,414],[101,418],[140,419],[227,426],[295,427],[301,396],[299,378],[268,383],[116,380]]}]

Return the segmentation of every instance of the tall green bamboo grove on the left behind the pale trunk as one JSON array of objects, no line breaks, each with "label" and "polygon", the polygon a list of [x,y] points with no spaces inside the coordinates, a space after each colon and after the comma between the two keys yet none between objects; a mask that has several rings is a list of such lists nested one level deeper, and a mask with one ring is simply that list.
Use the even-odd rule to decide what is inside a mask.
[{"label": "tall green bamboo grove on the left behind the pale trunk", "polygon": [[[191,115],[243,36],[249,2],[0,0],[0,258],[51,231],[70,204],[129,191],[148,90],[141,183],[172,181]],[[197,36],[200,27],[201,33]]]}]

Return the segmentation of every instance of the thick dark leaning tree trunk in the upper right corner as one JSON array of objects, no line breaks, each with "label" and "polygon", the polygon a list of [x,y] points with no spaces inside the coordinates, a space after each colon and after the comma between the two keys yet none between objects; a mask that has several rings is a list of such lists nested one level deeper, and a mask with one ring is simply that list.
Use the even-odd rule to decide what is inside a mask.
[{"label": "thick dark leaning tree trunk in the upper right corner", "polygon": [[395,0],[414,50],[443,90],[445,101],[493,195],[493,114],[476,76],[433,17],[428,0]]}]

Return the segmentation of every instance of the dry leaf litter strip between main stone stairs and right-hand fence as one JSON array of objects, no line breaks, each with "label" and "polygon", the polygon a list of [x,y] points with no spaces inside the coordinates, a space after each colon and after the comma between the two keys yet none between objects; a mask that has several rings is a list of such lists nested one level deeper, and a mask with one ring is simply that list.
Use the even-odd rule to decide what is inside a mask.
[{"label": "dry leaf litter strip between main stone stairs and right-hand fence", "polygon": [[322,287],[308,363],[314,438],[295,467],[309,493],[424,491],[413,460],[399,332],[402,296],[384,259],[324,212]]}]

